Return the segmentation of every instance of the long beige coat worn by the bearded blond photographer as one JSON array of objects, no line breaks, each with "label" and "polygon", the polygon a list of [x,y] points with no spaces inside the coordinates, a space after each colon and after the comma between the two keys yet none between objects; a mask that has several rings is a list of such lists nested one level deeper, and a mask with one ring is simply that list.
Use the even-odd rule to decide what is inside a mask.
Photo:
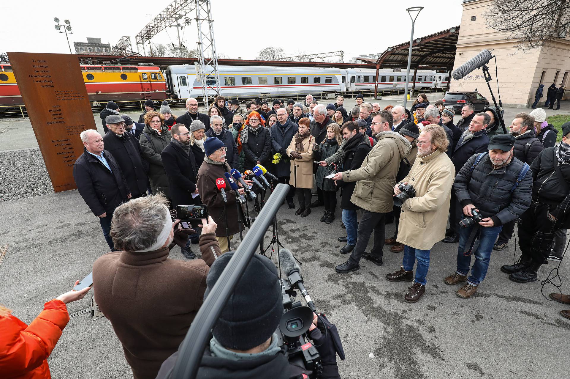
[{"label": "long beige coat worn by the bearded blond photographer", "polygon": [[400,183],[416,189],[416,197],[404,201],[397,241],[421,250],[429,250],[445,238],[451,187],[455,168],[440,150],[417,157],[410,173]]}]

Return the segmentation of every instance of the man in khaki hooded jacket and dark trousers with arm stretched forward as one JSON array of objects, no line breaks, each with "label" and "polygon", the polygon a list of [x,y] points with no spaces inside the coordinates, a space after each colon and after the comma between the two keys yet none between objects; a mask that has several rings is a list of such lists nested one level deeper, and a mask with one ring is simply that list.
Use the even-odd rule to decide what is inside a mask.
[{"label": "man in khaki hooded jacket and dark trousers with arm stretched forward", "polygon": [[[401,134],[392,131],[390,112],[382,110],[375,113],[371,126],[378,142],[364,158],[362,166],[358,170],[337,172],[332,178],[342,179],[344,182],[357,182],[351,201],[363,209],[356,247],[345,263],[335,267],[339,273],[359,269],[360,257],[378,266],[382,265],[382,248],[386,237],[384,219],[386,213],[392,212],[394,207],[392,188],[396,184],[400,161],[410,149],[410,142]],[[372,232],[374,232],[374,247],[370,253],[365,253]]]}]

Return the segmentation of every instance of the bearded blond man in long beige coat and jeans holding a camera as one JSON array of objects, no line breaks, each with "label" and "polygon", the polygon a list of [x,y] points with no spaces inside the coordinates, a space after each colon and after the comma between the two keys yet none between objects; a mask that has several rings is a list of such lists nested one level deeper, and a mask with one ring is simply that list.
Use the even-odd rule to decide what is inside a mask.
[{"label": "bearded blond man in long beige coat and jeans holding a camera", "polygon": [[[417,139],[418,155],[408,175],[394,186],[397,197],[404,195],[397,241],[404,244],[400,270],[389,273],[389,281],[412,281],[404,295],[416,303],[425,292],[431,247],[445,235],[447,209],[453,185],[453,163],[445,154],[449,140],[445,130],[435,124],[422,129]],[[402,193],[402,184],[406,193]],[[409,192],[409,186],[413,191]],[[418,261],[414,279],[414,261]]]}]

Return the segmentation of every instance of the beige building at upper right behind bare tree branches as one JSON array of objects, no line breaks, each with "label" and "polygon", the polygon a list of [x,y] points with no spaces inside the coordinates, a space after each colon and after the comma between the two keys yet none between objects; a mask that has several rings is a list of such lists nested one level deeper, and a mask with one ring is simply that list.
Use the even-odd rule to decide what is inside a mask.
[{"label": "beige building at upper right behind bare tree branches", "polygon": [[[530,107],[535,99],[536,88],[544,84],[544,96],[547,88],[555,83],[568,87],[570,71],[570,33],[565,38],[551,41],[548,47],[519,50],[517,42],[507,34],[487,26],[485,13],[492,4],[491,0],[467,0],[463,2],[461,28],[457,41],[454,69],[469,61],[479,51],[490,50],[496,55],[499,76],[499,90],[503,106]],[[497,78],[493,59],[487,64],[492,77],[491,88],[497,98]],[[493,105],[487,84],[481,70],[474,70],[463,79],[451,80],[450,91],[473,91],[477,88]],[[570,99],[570,91],[564,93]],[[541,99],[541,103],[546,97]]]}]

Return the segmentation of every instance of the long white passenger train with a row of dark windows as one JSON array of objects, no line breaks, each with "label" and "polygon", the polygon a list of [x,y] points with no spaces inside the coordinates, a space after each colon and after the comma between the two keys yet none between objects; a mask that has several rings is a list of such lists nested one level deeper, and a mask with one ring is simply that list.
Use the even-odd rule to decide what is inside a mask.
[{"label": "long white passenger train with a row of dark windows", "polygon": [[[198,98],[202,84],[197,75],[197,64],[166,67],[165,75],[173,98]],[[266,66],[218,66],[221,94],[224,96],[255,97],[258,95],[344,94],[345,92],[400,90],[405,87],[406,75],[393,70],[380,70],[376,78],[374,68],[314,68]],[[418,70],[416,89],[447,86],[447,74]],[[413,80],[410,78],[409,87]],[[206,79],[213,85],[214,79]],[[326,97],[326,96],[325,96]]]}]

